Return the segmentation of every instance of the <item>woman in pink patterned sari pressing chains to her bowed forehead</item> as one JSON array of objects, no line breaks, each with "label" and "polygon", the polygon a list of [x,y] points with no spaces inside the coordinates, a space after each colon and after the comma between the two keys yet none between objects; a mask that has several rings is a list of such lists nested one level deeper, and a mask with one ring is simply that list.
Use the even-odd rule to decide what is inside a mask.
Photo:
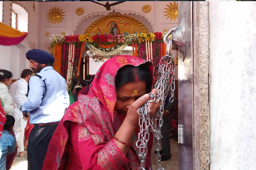
[{"label": "woman in pink patterned sari pressing chains to her bowed forehead", "polygon": [[[153,65],[122,55],[98,70],[88,95],[70,105],[49,143],[43,170],[139,169],[136,141],[137,109],[149,98]],[[153,116],[159,104],[150,103]],[[150,169],[153,135],[148,142],[146,168]]]}]

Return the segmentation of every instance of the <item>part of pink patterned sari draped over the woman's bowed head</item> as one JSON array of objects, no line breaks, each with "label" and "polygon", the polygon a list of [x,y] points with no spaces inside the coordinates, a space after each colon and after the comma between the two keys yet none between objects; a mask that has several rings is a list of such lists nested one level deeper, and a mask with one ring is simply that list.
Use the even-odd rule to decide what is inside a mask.
[{"label": "part of pink patterned sari draped over the woman's bowed head", "polygon": [[[110,114],[112,121],[114,121],[113,114],[117,98],[115,87],[117,71],[125,65],[139,66],[143,63],[146,63],[153,73],[154,67],[151,62],[131,55],[120,55],[108,59],[97,71],[88,95],[99,99]],[[153,74],[151,79],[153,79]]]}]

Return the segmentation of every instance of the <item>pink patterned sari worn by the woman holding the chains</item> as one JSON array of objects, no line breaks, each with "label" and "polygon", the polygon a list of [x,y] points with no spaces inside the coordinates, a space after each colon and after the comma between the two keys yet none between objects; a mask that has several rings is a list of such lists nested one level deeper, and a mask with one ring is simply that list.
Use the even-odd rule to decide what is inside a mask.
[{"label": "pink patterned sari worn by the woman holding the chains", "polygon": [[[146,63],[153,75],[153,65],[144,59],[122,55],[107,60],[98,70],[88,95],[80,94],[70,105],[56,128],[45,157],[43,170],[136,170],[140,162],[133,135],[126,155],[113,140],[124,117],[114,110],[115,76],[124,65]],[[125,135],[125,134],[124,134]],[[148,142],[146,167],[149,170],[153,135]]]}]

